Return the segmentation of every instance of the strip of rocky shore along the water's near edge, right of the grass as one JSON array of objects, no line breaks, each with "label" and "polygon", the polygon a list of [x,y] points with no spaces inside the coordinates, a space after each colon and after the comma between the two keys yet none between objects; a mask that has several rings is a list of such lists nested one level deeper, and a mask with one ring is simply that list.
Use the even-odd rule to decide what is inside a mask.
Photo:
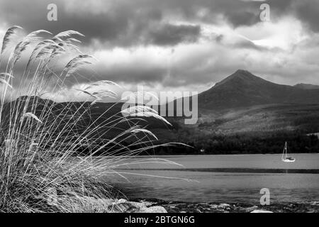
[{"label": "strip of rocky shore along the water's near edge, right of the grass", "polygon": [[[319,202],[310,204],[216,204],[164,201],[159,199],[119,199],[115,202],[121,212],[138,213],[318,213]],[[114,206],[115,207],[115,206]],[[115,210],[113,210],[115,211]]]}]

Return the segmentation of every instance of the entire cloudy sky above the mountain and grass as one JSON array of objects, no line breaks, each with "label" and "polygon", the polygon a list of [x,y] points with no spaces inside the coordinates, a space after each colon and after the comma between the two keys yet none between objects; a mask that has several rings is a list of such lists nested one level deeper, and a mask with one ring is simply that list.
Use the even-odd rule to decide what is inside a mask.
[{"label": "entire cloudy sky above the mountain and grass", "polygon": [[[47,21],[52,3],[57,21]],[[201,92],[237,69],[319,84],[318,16],[318,0],[0,0],[0,38],[13,25],[79,31],[81,50],[99,60],[90,79],[128,88]]]}]

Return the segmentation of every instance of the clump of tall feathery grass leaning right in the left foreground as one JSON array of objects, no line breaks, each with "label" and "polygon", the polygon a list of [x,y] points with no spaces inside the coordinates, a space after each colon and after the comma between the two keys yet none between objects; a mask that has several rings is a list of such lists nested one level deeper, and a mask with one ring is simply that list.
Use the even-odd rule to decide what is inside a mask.
[{"label": "clump of tall feathery grass leaning right in the left foreground", "polygon": [[[116,96],[109,87],[117,84],[105,80],[74,89],[90,97],[89,103],[61,105],[54,98],[43,99],[47,92],[61,94],[67,79],[76,79],[79,70],[91,65],[94,57],[79,51],[76,44],[80,41],[74,37],[83,35],[77,31],[43,39],[40,33],[51,33],[40,30],[21,38],[17,35],[21,29],[9,28],[0,56],[0,211],[111,211],[103,202],[113,197],[111,186],[101,178],[124,177],[125,172],[116,168],[128,164],[130,157],[143,150],[154,148],[152,141],[157,139],[130,116],[142,116],[144,111],[145,116],[164,118],[143,107],[126,111],[126,116],[103,113],[92,117],[91,109],[97,101]],[[27,52],[30,54],[23,60]],[[59,69],[60,59],[71,55]],[[108,89],[92,92],[101,84],[107,84]],[[121,127],[123,123],[128,127]],[[130,138],[134,139],[132,144],[125,145]],[[86,155],[77,156],[79,148],[85,148]],[[96,159],[96,154],[108,158]],[[145,162],[169,163],[152,159]]]}]

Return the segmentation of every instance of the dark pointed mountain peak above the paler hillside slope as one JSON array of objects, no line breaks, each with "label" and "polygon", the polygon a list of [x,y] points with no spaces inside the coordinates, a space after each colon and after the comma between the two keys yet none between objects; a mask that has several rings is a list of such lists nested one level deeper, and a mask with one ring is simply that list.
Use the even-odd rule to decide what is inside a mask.
[{"label": "dark pointed mountain peak above the paler hillside slope", "polygon": [[264,104],[319,104],[319,89],[275,84],[237,70],[198,95],[200,109],[234,109]]}]

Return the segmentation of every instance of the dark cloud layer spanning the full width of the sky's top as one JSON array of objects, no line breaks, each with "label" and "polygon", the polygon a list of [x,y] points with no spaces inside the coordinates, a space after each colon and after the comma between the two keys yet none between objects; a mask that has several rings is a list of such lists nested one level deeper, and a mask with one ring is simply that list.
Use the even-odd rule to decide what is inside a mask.
[{"label": "dark cloud layer spanning the full width of the sky's top", "polygon": [[[99,40],[109,47],[132,45],[177,45],[196,42],[200,23],[220,23],[218,15],[231,26],[259,23],[261,1],[240,0],[0,0],[0,19],[9,26],[18,24],[27,31],[45,28],[53,33],[76,30],[86,35],[84,42]],[[317,0],[269,0],[272,19],[293,14],[313,31],[319,31]],[[47,21],[47,5],[56,4],[58,21]],[[91,4],[90,4],[91,3]],[[201,13],[204,11],[205,13]],[[197,21],[197,26],[176,26],[164,22],[170,17]]]}]

